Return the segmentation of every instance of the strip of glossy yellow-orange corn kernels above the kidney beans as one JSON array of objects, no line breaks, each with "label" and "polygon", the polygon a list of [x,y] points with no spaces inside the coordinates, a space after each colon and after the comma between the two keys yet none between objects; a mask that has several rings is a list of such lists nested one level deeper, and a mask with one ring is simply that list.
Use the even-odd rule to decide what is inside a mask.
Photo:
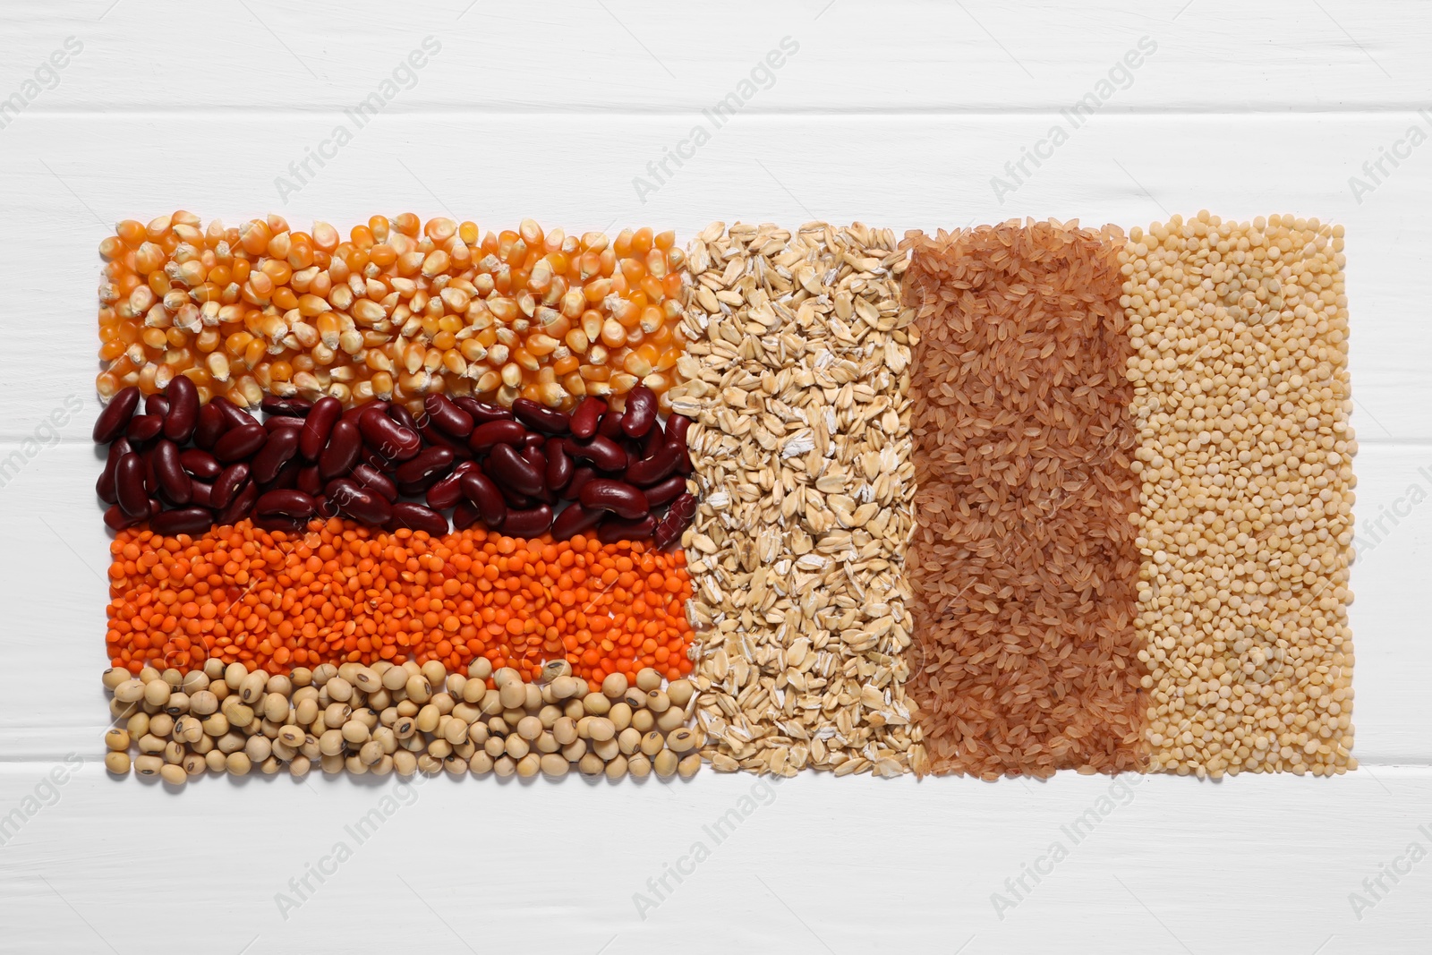
[{"label": "strip of glossy yellow-orange corn kernels above the kidney beans", "polygon": [[430,394],[570,411],[620,409],[637,382],[660,397],[682,355],[674,233],[543,232],[531,219],[483,235],[473,222],[374,216],[348,241],[281,216],[200,228],[189,212],[120,222],[100,243],[99,336],[107,401],[188,375],[200,401],[265,394],[417,411]]}]

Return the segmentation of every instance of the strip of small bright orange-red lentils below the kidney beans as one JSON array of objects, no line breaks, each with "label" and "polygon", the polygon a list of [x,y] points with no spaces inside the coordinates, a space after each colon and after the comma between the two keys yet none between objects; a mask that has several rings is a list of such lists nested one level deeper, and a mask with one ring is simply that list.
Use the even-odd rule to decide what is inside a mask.
[{"label": "strip of small bright orange-red lentils below the kidney beans", "polygon": [[563,659],[596,689],[611,673],[692,670],[680,550],[480,528],[431,538],[334,518],[305,534],[239,521],[160,537],[140,525],[110,554],[107,651],[136,674],[211,657],[269,673],[378,660],[460,670],[485,657],[536,680]]}]

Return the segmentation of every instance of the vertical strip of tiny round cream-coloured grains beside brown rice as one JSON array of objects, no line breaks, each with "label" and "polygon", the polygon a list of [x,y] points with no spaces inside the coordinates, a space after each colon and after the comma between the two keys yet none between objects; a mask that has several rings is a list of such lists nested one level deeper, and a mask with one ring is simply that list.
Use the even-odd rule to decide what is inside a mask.
[{"label": "vertical strip of tiny round cream-coloured grains beside brown rice", "polygon": [[1150,767],[1356,769],[1343,229],[1200,212],[1123,261]]}]

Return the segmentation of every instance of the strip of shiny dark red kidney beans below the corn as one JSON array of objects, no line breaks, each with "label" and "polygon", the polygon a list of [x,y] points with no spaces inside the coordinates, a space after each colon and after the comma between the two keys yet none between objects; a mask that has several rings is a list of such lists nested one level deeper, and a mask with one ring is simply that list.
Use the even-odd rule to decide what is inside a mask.
[{"label": "strip of shiny dark red kidney beans below the corn", "polygon": [[139,405],[139,389],[125,388],[95,422],[95,441],[109,444],[95,490],[115,530],[147,520],[156,534],[200,534],[252,517],[296,531],[342,515],[437,535],[451,510],[458,530],[594,531],[666,548],[696,514],[690,420],[670,415],[663,428],[644,385],[621,412],[587,397],[570,415],[526,398],[500,408],[428,395],[417,420],[385,401],[344,411],[337,398],[269,397],[261,424],[223,398],[200,407],[179,375]]}]

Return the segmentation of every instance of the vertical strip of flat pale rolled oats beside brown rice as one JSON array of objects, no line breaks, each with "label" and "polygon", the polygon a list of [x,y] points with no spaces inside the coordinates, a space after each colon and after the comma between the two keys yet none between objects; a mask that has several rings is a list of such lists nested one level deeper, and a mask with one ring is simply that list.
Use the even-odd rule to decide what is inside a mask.
[{"label": "vertical strip of flat pale rolled oats beside brown rice", "polygon": [[713,223],[692,242],[672,408],[703,756],[792,776],[924,772],[905,696],[912,309],[889,229]]}]

